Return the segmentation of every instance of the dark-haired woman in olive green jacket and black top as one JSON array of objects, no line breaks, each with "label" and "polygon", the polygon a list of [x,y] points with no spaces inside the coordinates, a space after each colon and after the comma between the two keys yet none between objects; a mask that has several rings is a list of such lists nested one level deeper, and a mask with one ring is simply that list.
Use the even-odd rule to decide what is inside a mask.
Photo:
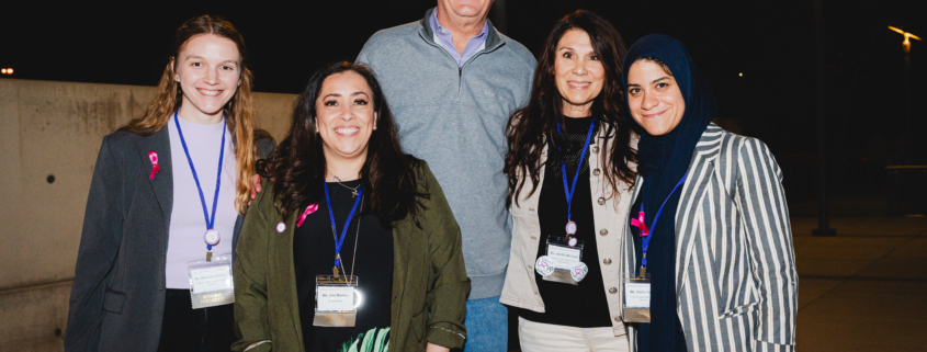
[{"label": "dark-haired woman in olive green jacket and black top", "polygon": [[463,345],[460,227],[369,68],[316,72],[265,170],[237,250],[234,350]]}]

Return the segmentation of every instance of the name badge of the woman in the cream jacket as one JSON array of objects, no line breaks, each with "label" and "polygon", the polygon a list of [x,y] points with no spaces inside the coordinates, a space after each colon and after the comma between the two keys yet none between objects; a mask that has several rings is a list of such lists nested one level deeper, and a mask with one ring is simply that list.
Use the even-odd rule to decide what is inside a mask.
[{"label": "name badge of the woman in the cream jacket", "polygon": [[547,254],[538,258],[534,270],[544,281],[578,285],[589,272],[583,263],[583,246],[581,240],[569,246],[563,237],[547,237]]}]

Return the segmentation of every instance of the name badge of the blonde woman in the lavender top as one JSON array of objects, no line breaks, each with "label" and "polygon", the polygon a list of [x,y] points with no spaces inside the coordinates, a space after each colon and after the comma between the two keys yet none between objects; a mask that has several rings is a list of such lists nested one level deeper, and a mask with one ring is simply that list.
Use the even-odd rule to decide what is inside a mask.
[{"label": "name badge of the blonde woman in the lavender top", "polygon": [[212,260],[186,262],[190,280],[190,300],[193,309],[235,303],[235,284],[231,281],[231,253]]}]

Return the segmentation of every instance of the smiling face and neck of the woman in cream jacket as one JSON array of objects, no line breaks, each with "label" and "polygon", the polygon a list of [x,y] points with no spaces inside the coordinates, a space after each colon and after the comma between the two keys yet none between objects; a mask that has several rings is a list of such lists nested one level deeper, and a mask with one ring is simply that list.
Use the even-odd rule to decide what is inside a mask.
[{"label": "smiling face and neck of the woman in cream jacket", "polygon": [[563,114],[586,117],[591,114],[592,100],[602,92],[606,71],[592,48],[589,34],[569,30],[557,43],[554,56],[554,76],[557,91],[563,96]]}]

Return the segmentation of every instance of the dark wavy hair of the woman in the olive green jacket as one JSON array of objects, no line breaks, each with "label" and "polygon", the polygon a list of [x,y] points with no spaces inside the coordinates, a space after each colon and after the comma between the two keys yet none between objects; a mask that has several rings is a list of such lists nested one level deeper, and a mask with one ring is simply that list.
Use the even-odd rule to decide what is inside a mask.
[{"label": "dark wavy hair of the woman in the olive green jacket", "polygon": [[370,190],[370,211],[384,225],[409,216],[418,220],[419,197],[427,196],[417,191],[412,167],[418,160],[404,154],[399,146],[396,124],[376,76],[366,66],[348,61],[326,66],[313,75],[296,101],[290,132],[259,167],[265,177],[274,180],[276,208],[287,217],[324,200],[326,160],[321,137],[315,130],[316,101],[326,78],[347,71],[366,80],[373,92],[373,109],[377,111],[376,129],[368,141],[366,161],[361,170],[361,180]]}]

